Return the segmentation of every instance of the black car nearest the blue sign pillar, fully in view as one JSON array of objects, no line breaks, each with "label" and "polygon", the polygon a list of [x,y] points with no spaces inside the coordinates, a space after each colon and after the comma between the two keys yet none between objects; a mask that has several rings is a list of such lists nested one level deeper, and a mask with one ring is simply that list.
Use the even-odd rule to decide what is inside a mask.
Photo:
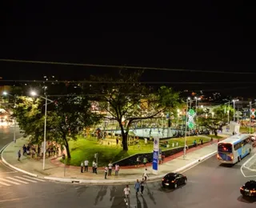
[{"label": "black car nearest the blue sign pillar, fully in view", "polygon": [[170,174],[166,174],[166,176],[162,178],[162,187],[176,189],[178,186],[186,184],[186,182],[187,182],[187,178],[185,175],[170,173]]}]

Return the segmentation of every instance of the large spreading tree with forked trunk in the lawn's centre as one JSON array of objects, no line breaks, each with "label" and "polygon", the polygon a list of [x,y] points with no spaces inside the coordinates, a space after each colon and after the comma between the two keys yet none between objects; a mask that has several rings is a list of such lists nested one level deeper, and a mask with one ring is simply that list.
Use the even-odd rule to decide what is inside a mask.
[{"label": "large spreading tree with forked trunk in the lawn's centre", "polygon": [[99,84],[89,88],[99,94],[93,99],[98,100],[100,108],[106,111],[104,118],[118,122],[123,150],[128,150],[127,136],[133,123],[158,118],[178,103],[178,93],[171,88],[162,86],[157,93],[152,93],[149,87],[143,86],[139,82],[141,74],[120,70],[118,78],[92,78]]}]

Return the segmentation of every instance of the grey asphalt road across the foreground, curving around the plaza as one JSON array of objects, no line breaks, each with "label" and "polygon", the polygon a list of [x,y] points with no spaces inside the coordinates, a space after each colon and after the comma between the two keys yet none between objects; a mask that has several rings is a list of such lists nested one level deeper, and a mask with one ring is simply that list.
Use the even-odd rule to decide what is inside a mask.
[{"label": "grey asphalt road across the foreground, curving around the plaza", "polygon": [[[241,172],[242,163],[248,158],[250,157],[231,167],[220,166],[215,157],[209,158],[184,172],[188,183],[177,190],[162,190],[160,182],[153,182],[147,184],[143,197],[136,198],[134,189],[130,186],[132,191],[130,207],[255,207],[256,201],[243,199],[239,193],[239,187],[249,180]],[[250,176],[251,179],[256,179],[253,174]],[[26,178],[24,174],[21,177]],[[16,179],[23,181],[21,178]],[[30,179],[35,181],[33,178]],[[126,207],[122,196],[123,188],[124,186],[86,186],[27,181],[27,184],[1,186],[0,207],[122,208]]]}]

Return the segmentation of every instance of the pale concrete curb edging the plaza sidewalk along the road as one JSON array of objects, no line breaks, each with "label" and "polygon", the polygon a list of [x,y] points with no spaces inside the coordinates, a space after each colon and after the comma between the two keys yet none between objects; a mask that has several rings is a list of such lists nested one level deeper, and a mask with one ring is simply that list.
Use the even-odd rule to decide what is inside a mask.
[{"label": "pale concrete curb edging the plaza sidewalk along the road", "polygon": [[[217,151],[214,151],[210,154],[206,154],[205,156],[202,156],[201,158],[195,160],[194,162],[190,162],[186,166],[182,166],[181,168],[178,168],[177,170],[174,170],[173,172],[180,172],[182,170],[186,170],[190,167],[195,166],[199,162],[205,161],[206,159],[212,157],[214,154],[216,154]],[[159,179],[162,179],[166,174],[150,177],[147,179],[149,182],[154,182]],[[122,180],[85,180],[85,179],[75,179],[75,178],[54,178],[54,177],[44,177],[44,179],[54,181],[54,182],[76,182],[76,183],[86,183],[86,184],[104,184],[104,185],[113,185],[113,184],[133,184],[135,179],[122,179]]]}]

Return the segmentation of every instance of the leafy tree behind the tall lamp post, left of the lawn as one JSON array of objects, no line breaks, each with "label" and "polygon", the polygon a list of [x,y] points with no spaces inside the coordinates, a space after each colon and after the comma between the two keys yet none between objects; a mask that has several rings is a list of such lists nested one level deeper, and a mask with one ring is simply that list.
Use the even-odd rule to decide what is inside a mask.
[{"label": "leafy tree behind the tall lamp post, left of the lawn", "polygon": [[[53,106],[54,105],[54,106]],[[14,109],[20,128],[30,135],[31,142],[42,142],[44,135],[44,102],[42,99],[20,97]],[[100,117],[91,113],[90,102],[80,96],[66,96],[50,103],[47,110],[47,140],[57,141],[66,147],[67,158],[71,158],[69,141],[86,126],[98,122]]]}]

